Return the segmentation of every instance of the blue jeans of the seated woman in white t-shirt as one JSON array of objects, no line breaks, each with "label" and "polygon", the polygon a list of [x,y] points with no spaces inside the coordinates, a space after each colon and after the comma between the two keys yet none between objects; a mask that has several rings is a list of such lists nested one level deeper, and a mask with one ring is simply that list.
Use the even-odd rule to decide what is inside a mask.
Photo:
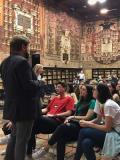
[{"label": "blue jeans of the seated woman in white t-shirt", "polygon": [[87,160],[96,160],[94,146],[103,147],[106,132],[94,128],[82,128],[78,137],[78,144],[74,160],[80,160],[83,153]]}]

